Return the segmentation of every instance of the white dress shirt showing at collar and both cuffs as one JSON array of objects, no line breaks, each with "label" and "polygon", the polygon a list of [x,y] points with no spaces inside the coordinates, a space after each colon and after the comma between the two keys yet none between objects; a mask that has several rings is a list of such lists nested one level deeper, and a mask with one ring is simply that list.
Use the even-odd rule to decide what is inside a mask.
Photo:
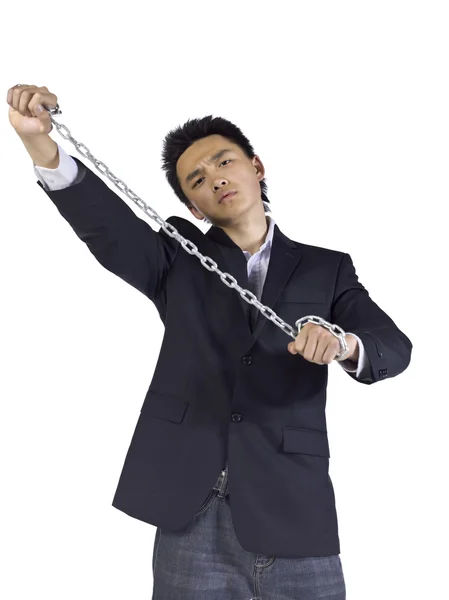
[{"label": "white dress shirt showing at collar and both cuffs", "polygon": [[[69,187],[75,183],[79,174],[78,165],[59,144],[58,150],[59,165],[56,169],[47,169],[45,167],[37,167],[34,165],[36,177],[47,191],[62,190],[66,187]],[[266,218],[268,222],[268,231],[265,242],[253,255],[246,250],[242,250],[247,259],[248,281],[251,286],[251,291],[257,296],[259,301],[262,297],[262,290],[267,276],[268,264],[271,256],[271,244],[273,240],[274,226],[276,224],[271,215],[266,215]],[[338,364],[341,365],[345,371],[355,373],[356,377],[363,377],[365,374],[369,375],[369,362],[362,340],[354,333],[346,332],[346,334],[353,335],[357,339],[359,345],[358,363],[356,364],[350,360],[336,362],[338,362]],[[285,351],[288,352],[287,340],[285,344]]]}]

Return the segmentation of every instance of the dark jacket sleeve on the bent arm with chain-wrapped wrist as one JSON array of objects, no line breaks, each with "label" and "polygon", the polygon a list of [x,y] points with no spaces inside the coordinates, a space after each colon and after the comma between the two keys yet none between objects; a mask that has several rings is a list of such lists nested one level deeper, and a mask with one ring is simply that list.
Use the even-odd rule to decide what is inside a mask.
[{"label": "dark jacket sleeve on the bent arm with chain-wrapped wrist", "polygon": [[369,359],[370,372],[357,379],[371,384],[381,379],[395,377],[408,367],[412,343],[398,329],[393,320],[370,298],[358,280],[349,254],[343,254],[332,300],[332,323],[346,333],[357,335]]}]

